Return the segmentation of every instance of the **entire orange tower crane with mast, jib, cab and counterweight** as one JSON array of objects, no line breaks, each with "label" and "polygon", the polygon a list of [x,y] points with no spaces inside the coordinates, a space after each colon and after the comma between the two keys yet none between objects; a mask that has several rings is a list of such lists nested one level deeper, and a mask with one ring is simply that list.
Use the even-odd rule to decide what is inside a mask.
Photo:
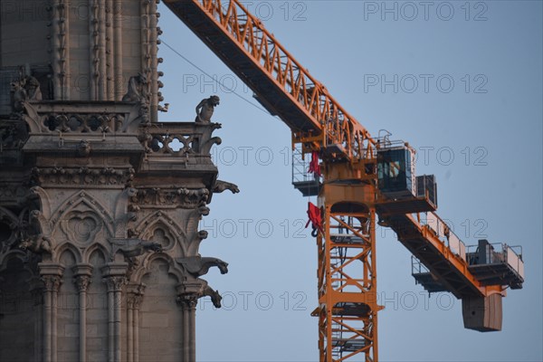
[{"label": "entire orange tower crane with mast, jib, cab and counterweight", "polygon": [[433,176],[414,175],[414,150],[372,138],[238,0],[165,4],[291,129],[292,148],[322,161],[322,179],[293,183],[319,196],[319,306],[311,314],[320,361],[378,360],[377,215],[413,253],[417,283],[461,299],[466,328],[500,330],[505,289],[524,281],[519,252],[487,241],[466,250],[434,213]]}]

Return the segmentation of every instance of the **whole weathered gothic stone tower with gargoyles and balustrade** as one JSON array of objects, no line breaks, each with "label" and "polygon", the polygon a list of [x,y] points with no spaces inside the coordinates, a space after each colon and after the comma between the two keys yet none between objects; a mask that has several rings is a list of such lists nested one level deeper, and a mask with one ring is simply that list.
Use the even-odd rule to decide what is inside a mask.
[{"label": "whole weathered gothic stone tower with gargoyles and balustrade", "polygon": [[198,221],[238,190],[219,124],[157,120],[157,1],[0,5],[0,361],[195,361]]}]

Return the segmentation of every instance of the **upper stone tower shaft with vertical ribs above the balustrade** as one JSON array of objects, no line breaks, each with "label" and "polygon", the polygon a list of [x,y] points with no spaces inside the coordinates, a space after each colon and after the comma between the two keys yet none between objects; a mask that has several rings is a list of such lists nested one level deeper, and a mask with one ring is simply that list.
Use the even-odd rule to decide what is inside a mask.
[{"label": "upper stone tower shaft with vertical ribs above the balustrade", "polygon": [[0,68],[24,66],[43,99],[122,100],[141,73],[157,120],[156,2],[3,0],[0,10]]}]

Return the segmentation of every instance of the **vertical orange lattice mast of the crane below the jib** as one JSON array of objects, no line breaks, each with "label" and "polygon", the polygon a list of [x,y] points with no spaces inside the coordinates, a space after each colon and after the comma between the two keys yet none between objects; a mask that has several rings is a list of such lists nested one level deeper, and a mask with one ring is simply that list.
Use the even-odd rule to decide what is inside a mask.
[{"label": "vertical orange lattice mast of the crane below the jib", "polygon": [[319,317],[321,362],[378,360],[375,193],[367,184],[326,183],[319,194],[324,230],[317,238],[319,308],[313,315]]}]

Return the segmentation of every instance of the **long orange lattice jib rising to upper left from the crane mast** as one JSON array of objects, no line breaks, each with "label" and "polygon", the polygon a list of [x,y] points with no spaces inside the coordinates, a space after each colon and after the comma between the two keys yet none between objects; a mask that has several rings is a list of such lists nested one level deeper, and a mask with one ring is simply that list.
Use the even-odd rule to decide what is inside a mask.
[{"label": "long orange lattice jib rising to upper left from the crane mast", "polygon": [[[276,93],[267,105],[291,128],[295,143],[311,147],[316,142],[312,147],[316,149],[347,146],[345,156],[350,160],[364,158],[366,150],[376,147],[367,129],[238,0],[165,0],[165,4],[256,94],[270,100]],[[207,18],[197,18],[198,14]],[[213,28],[220,34],[209,35]],[[246,71],[250,68],[257,69],[258,76]],[[291,108],[288,114],[285,108]]]}]

